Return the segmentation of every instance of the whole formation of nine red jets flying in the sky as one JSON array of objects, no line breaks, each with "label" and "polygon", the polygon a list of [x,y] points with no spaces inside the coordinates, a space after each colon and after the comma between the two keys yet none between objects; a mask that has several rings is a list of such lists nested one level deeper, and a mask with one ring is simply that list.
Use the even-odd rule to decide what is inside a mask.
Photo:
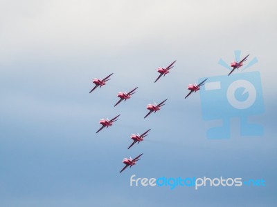
[{"label": "whole formation of nine red jets flying in the sky", "polygon": [[[249,55],[247,55],[247,57],[249,57]],[[232,73],[235,69],[238,69],[238,68],[242,67],[242,66],[243,66],[243,62],[244,62],[244,61],[247,61],[247,57],[244,57],[244,59],[242,59],[241,61],[238,61],[238,62],[237,62],[237,61],[231,62],[231,68],[232,68],[232,70],[231,70],[231,72],[229,72],[229,75],[231,75],[231,73]],[[159,77],[157,77],[157,79],[154,81],[154,83],[156,83],[162,76],[166,76],[166,74],[168,74],[168,73],[170,72],[170,69],[174,67],[173,64],[174,64],[175,62],[176,62],[176,61],[173,61],[173,62],[172,62],[168,67],[166,67],[166,68],[161,68],[161,67],[159,67],[157,71],[160,73],[160,75],[159,75]],[[100,86],[100,88],[101,88],[101,86],[105,86],[106,82],[110,80],[109,77],[111,77],[111,75],[113,75],[113,73],[111,73],[110,75],[108,75],[107,77],[105,77],[105,79],[93,79],[93,83],[94,83],[96,86],[94,86],[94,87],[91,89],[91,91],[90,91],[89,93],[93,92],[93,90],[95,90],[96,88],[98,88],[98,86]],[[228,76],[229,76],[229,75],[228,75]],[[207,79],[204,79],[204,81],[202,81],[202,82],[199,83],[199,84],[197,84],[197,83],[195,83],[195,84],[189,84],[189,85],[188,85],[188,90],[190,90],[190,92],[188,93],[188,95],[186,95],[185,99],[186,99],[189,95],[191,95],[193,92],[197,92],[198,90],[200,90],[201,87],[204,86],[206,80],[207,80]],[[131,96],[132,96],[134,93],[136,93],[135,90],[136,90],[137,88],[138,88],[138,87],[134,88],[133,90],[131,90],[131,91],[129,91],[129,92],[118,92],[117,97],[119,97],[119,101],[116,102],[116,104],[114,105],[114,107],[117,106],[121,101],[126,101],[127,99],[130,99]],[[148,104],[148,105],[146,106],[146,109],[149,110],[149,112],[148,112],[147,115],[145,115],[144,119],[145,119],[146,117],[148,117],[152,112],[155,113],[155,112],[157,112],[158,110],[161,110],[161,106],[166,105],[165,102],[166,102],[167,100],[168,100],[168,99],[165,99],[165,100],[161,101],[161,103],[159,103],[159,104],[157,104],[157,103]],[[117,121],[117,120],[118,120],[117,118],[118,118],[119,116],[120,116],[120,115],[117,115],[116,117],[114,117],[114,118],[111,119],[111,120],[109,120],[109,119],[100,119],[100,124],[102,125],[102,127],[101,127],[96,133],[100,132],[100,130],[102,130],[103,128],[108,128],[109,126],[112,126],[112,125],[114,124],[114,121]],[[132,144],[128,147],[128,149],[129,149],[129,148],[132,148],[132,146],[134,146],[134,144],[136,144],[136,143],[139,144],[141,141],[143,141],[143,140],[144,140],[144,137],[148,136],[148,132],[149,132],[149,131],[150,131],[150,129],[147,130],[147,131],[145,131],[142,135],[139,135],[139,133],[138,133],[137,135],[136,135],[136,134],[132,134],[132,135],[131,135]],[[141,155],[143,155],[143,153],[142,153]],[[127,167],[130,167],[130,168],[131,168],[132,166],[134,166],[134,165],[136,164],[136,161],[139,161],[139,160],[141,159],[141,158],[140,158],[141,155],[137,156],[137,157],[134,158],[134,159],[132,159],[131,157],[129,157],[129,159],[128,159],[128,158],[124,158],[124,159],[123,159],[123,164],[125,164],[125,166],[124,166],[124,168],[123,168],[122,170],[120,170],[120,172],[123,172],[123,170],[125,170]]]}]

